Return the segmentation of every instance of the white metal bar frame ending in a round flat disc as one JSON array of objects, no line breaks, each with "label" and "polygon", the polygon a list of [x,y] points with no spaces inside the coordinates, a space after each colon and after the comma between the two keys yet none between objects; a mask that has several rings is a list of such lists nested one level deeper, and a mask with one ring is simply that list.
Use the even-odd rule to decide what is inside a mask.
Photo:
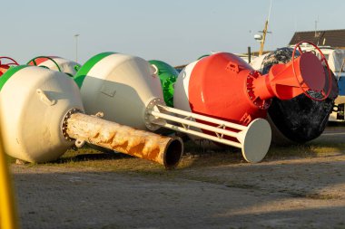
[{"label": "white metal bar frame ending in a round flat disc", "polygon": [[[156,104],[155,108],[148,110],[148,113],[154,117],[152,119],[153,124],[200,138],[206,138],[235,148],[242,148],[242,155],[249,162],[255,163],[261,161],[270,148],[271,127],[265,119],[255,119],[246,127],[222,119],[214,119],[160,104]],[[210,124],[200,123],[194,119],[199,119]],[[173,125],[167,122],[167,120],[178,123],[179,126]],[[192,128],[212,131],[215,136],[196,131]],[[230,129],[234,130],[232,131]],[[236,138],[237,141],[229,138]]]}]

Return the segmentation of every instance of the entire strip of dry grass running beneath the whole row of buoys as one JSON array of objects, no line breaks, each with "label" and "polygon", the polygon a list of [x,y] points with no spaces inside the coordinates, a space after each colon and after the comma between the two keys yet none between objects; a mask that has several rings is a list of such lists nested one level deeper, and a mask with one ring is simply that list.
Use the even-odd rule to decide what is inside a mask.
[{"label": "entire strip of dry grass running beneath the whole row of buoys", "polygon": [[[304,145],[292,145],[289,147],[271,146],[264,161],[281,160],[295,157],[327,157],[334,154],[345,154],[345,143],[338,141],[333,143],[327,139],[312,141]],[[9,157],[10,163],[15,159]],[[209,149],[192,141],[184,144],[184,156],[180,165],[168,173],[162,165],[131,157],[111,151],[101,152],[94,148],[69,149],[57,160],[45,164],[29,163],[27,167],[54,166],[54,167],[91,167],[96,170],[113,172],[134,172],[146,175],[174,176],[176,173],[190,167],[218,167],[230,164],[246,163],[239,148]]]}]

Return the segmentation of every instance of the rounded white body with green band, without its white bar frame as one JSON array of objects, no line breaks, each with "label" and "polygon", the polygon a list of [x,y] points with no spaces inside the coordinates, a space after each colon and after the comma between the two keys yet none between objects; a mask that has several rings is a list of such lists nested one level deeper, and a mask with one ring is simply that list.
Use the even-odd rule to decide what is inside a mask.
[{"label": "rounded white body with green band, without its white bar frame", "polygon": [[154,72],[142,58],[104,52],[85,62],[74,80],[86,113],[102,111],[104,119],[136,129],[154,129],[145,119],[150,101],[163,98],[161,82]]}]

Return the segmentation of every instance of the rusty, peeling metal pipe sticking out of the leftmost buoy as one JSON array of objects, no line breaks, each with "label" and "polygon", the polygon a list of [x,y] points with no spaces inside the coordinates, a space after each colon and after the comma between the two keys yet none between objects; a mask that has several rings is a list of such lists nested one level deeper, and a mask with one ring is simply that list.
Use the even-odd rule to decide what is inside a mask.
[{"label": "rusty, peeling metal pipe sticking out of the leftmost buoy", "polygon": [[83,113],[66,116],[63,131],[69,138],[76,139],[76,145],[85,141],[152,160],[166,168],[176,167],[182,157],[181,138],[163,137]]}]

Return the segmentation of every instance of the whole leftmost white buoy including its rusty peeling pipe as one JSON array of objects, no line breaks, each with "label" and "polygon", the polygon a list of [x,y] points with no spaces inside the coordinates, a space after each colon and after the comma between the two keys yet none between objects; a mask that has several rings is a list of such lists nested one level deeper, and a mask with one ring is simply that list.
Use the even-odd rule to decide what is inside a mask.
[{"label": "whole leftmost white buoy including its rusty peeling pipe", "polygon": [[162,137],[83,114],[72,78],[36,66],[11,68],[0,78],[2,136],[8,155],[46,162],[84,142],[173,168],[182,157],[180,138]]}]

